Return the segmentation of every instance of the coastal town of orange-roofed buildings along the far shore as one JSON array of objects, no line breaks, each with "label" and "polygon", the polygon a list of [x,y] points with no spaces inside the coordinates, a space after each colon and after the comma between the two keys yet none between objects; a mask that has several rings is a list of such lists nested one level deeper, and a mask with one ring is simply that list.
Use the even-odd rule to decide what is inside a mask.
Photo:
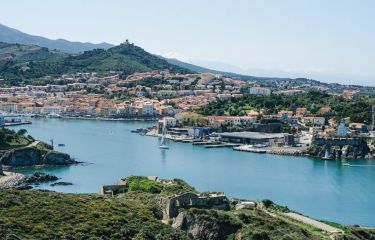
[{"label": "coastal town of orange-roofed buildings along the far shore", "polygon": [[[307,106],[285,109],[249,108],[239,114],[200,114],[215,102],[246,96],[285,98],[318,91],[350,101],[357,95],[372,96],[371,87],[342,87],[310,82],[280,86],[244,81],[219,74],[175,74],[169,71],[65,74],[48,84],[0,88],[0,125],[32,123],[34,117],[107,120],[159,120],[148,135],[204,145],[208,148],[324,159],[374,156],[375,105],[371,122],[321,106],[314,113]],[[46,80],[45,79],[45,80]],[[197,113],[198,112],[198,113]],[[340,115],[340,118],[334,116]]]}]

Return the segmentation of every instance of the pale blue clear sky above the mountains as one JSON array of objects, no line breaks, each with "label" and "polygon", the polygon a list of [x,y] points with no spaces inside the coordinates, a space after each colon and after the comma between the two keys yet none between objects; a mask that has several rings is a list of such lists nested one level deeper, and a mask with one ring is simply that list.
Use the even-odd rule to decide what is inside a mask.
[{"label": "pale blue clear sky above the mountains", "polygon": [[255,76],[375,86],[373,0],[1,0],[0,23]]}]

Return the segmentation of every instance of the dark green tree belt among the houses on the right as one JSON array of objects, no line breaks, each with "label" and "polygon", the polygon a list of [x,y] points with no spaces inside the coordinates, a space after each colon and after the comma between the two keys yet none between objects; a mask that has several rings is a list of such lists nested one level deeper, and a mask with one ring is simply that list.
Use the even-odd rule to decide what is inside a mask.
[{"label": "dark green tree belt among the houses on the right", "polygon": [[266,109],[269,113],[277,113],[280,110],[294,111],[299,107],[306,107],[312,115],[320,115],[321,107],[331,107],[332,116],[337,120],[350,117],[353,122],[371,122],[371,106],[375,104],[374,96],[358,95],[353,99],[332,96],[320,91],[284,96],[257,96],[245,95],[241,98],[211,102],[207,106],[197,109],[197,113],[203,115],[245,115],[246,110]]}]

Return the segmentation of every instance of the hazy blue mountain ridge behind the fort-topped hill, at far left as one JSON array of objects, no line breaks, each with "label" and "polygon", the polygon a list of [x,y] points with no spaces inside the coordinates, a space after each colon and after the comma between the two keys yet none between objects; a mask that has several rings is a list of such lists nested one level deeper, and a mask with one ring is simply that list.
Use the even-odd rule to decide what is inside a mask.
[{"label": "hazy blue mountain ridge behind the fort-topped hill, at far left", "polygon": [[113,45],[109,43],[94,44],[70,42],[64,39],[51,40],[45,37],[33,36],[27,33],[23,33],[2,24],[0,24],[0,42],[38,45],[41,47],[46,47],[52,50],[56,49],[58,51],[66,53],[80,53],[96,48],[108,49],[110,47],[113,47]]}]

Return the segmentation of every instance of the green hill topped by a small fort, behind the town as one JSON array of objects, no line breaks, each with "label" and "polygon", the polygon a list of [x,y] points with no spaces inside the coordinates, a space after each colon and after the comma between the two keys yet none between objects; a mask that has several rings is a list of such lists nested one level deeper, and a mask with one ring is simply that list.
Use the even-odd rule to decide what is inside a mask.
[{"label": "green hill topped by a small fort, behind the town", "polygon": [[151,70],[192,72],[128,42],[107,50],[94,49],[78,55],[35,45],[0,43],[0,79],[5,79],[3,83],[7,85],[31,83],[41,77],[64,73],[120,71],[126,76]]}]

